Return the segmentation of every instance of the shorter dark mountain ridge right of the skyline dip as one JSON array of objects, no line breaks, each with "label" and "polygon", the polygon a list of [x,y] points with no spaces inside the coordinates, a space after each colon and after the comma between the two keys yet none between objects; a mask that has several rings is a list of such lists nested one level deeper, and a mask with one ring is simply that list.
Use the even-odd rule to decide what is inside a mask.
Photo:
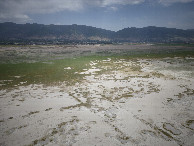
[{"label": "shorter dark mountain ridge right of the skyline dip", "polygon": [[194,31],[155,26],[132,27],[116,32],[114,39],[130,42],[194,42]]}]

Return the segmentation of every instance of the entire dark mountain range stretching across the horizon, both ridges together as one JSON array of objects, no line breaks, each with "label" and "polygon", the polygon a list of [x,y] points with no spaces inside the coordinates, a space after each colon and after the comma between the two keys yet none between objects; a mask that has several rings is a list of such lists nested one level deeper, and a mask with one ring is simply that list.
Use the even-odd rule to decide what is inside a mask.
[{"label": "entire dark mountain range stretching across the horizon, both ridges together", "polygon": [[117,32],[85,25],[0,23],[0,42],[194,42],[194,30],[149,26]]}]

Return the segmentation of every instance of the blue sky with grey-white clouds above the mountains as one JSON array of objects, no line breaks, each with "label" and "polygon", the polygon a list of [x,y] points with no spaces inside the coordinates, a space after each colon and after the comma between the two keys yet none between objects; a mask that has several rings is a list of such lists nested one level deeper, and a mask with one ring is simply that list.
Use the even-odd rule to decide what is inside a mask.
[{"label": "blue sky with grey-white clouds above the mountains", "polygon": [[194,29],[194,0],[0,0],[0,23]]}]

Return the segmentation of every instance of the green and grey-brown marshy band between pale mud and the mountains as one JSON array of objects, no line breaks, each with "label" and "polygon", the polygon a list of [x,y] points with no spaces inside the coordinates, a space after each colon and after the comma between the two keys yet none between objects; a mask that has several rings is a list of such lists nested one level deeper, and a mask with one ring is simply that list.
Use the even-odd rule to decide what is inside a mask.
[{"label": "green and grey-brown marshy band between pale mud and the mountains", "polygon": [[[52,85],[64,81],[70,84],[80,82],[85,75],[79,73],[89,69],[91,61],[107,58],[135,60],[194,56],[192,47],[169,48],[160,48],[157,45],[1,46],[0,88],[41,83]],[[112,66],[115,65],[112,63]],[[138,65],[131,67],[139,69]]]}]

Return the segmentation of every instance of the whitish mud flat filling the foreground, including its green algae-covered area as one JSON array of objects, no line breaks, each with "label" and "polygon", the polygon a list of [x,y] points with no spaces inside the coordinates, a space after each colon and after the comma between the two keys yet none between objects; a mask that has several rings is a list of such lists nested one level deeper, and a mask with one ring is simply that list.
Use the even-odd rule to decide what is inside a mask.
[{"label": "whitish mud flat filling the foreground, including its green algae-covered area", "polygon": [[0,145],[194,145],[191,53],[91,47],[95,55],[2,61]]}]

